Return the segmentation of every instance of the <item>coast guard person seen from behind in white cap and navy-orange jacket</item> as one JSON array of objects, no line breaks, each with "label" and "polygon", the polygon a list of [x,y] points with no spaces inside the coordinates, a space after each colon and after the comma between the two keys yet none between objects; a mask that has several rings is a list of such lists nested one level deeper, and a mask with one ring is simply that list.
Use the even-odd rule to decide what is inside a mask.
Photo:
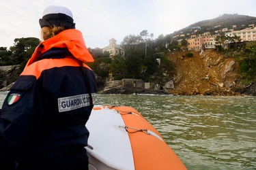
[{"label": "coast guard person seen from behind in white cap and navy-orange jacket", "polygon": [[44,41],[3,102],[0,166],[88,169],[85,124],[96,97],[94,61],[67,7],[48,6],[39,20]]}]

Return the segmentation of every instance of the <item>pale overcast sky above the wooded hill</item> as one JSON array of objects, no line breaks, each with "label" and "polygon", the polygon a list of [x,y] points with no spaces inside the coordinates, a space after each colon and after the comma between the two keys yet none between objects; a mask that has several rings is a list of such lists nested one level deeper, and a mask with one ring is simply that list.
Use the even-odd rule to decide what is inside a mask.
[{"label": "pale overcast sky above the wooded hill", "polygon": [[222,14],[256,16],[255,0],[1,0],[0,47],[10,48],[15,38],[41,39],[38,20],[48,5],[70,8],[87,48],[104,48],[111,38],[121,44],[143,30],[156,39]]}]

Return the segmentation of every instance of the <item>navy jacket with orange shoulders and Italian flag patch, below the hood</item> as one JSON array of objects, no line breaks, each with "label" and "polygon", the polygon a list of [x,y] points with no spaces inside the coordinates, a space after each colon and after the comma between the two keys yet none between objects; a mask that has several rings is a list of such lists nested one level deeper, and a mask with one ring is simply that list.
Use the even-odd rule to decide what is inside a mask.
[{"label": "navy jacket with orange shoulders and Italian flag patch, below the hood", "polygon": [[42,43],[10,89],[0,114],[0,161],[62,146],[87,146],[85,124],[96,97],[96,80],[69,48],[47,49]]}]

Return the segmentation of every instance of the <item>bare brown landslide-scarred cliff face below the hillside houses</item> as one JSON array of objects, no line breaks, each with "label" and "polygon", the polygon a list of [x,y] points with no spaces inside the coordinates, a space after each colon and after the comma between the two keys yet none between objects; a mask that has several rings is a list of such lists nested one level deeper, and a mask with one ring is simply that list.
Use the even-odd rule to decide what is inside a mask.
[{"label": "bare brown landslide-scarred cliff face below the hillside houses", "polygon": [[174,88],[169,92],[177,95],[239,95],[242,88],[236,59],[204,50],[202,54],[188,51],[171,52],[169,59],[176,65]]}]

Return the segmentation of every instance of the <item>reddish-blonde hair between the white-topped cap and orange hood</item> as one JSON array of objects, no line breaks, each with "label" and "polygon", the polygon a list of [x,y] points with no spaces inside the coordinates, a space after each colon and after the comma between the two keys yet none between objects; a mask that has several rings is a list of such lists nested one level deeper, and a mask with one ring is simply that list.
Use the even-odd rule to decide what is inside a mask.
[{"label": "reddish-blonde hair between the white-topped cap and orange hood", "polygon": [[55,27],[55,26],[54,27],[50,27],[50,26],[42,27],[41,36],[42,36],[42,39],[44,39],[44,41],[45,41],[46,39],[49,39],[64,30],[66,30],[65,27]]}]

